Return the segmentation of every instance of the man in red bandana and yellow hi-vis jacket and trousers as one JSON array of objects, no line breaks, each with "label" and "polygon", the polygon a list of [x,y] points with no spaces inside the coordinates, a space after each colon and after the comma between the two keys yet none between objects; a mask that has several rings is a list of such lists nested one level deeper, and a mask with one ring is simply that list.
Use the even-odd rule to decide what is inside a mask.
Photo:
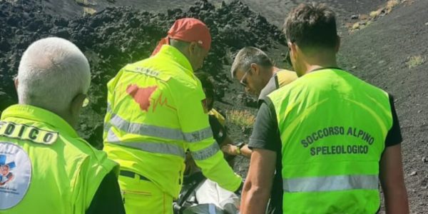
[{"label": "man in red bandana and yellow hi-vis jacket and trousers", "polygon": [[185,152],[226,190],[242,187],[208,123],[205,94],[193,71],[210,50],[208,27],[178,19],[153,56],[108,82],[104,150],[121,165],[126,213],[172,213],[183,183]]}]

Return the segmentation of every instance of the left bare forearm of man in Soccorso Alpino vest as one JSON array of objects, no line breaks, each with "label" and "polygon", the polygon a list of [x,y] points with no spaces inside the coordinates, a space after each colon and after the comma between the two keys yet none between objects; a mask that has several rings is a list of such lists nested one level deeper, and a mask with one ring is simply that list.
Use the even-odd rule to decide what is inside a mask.
[{"label": "left bare forearm of man in Soccorso Alpino vest", "polygon": [[254,148],[243,188],[240,213],[265,213],[272,188],[276,158],[274,151]]}]

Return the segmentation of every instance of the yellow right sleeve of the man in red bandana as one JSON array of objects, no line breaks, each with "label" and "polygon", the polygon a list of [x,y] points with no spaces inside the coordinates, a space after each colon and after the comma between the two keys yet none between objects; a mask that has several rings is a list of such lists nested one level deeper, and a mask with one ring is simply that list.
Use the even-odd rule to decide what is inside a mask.
[{"label": "yellow right sleeve of the man in red bandana", "polygon": [[178,91],[180,90],[174,91],[176,93],[174,97],[180,97],[177,100],[180,128],[185,133],[186,147],[190,150],[196,165],[205,177],[218,183],[220,187],[230,191],[238,190],[243,179],[230,168],[213,138],[208,114],[204,113],[200,103],[204,98],[202,88],[196,90],[185,88],[180,93]]}]

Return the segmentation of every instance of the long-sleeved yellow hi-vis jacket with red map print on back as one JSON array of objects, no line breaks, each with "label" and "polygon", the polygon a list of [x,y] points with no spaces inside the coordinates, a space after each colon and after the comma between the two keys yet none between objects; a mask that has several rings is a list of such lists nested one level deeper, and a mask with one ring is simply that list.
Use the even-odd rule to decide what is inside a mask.
[{"label": "long-sleeved yellow hi-vis jacket with red map print on back", "polygon": [[107,85],[104,150],[121,165],[178,197],[190,150],[206,177],[236,190],[242,178],[223,159],[208,123],[205,94],[173,46],[129,64]]}]

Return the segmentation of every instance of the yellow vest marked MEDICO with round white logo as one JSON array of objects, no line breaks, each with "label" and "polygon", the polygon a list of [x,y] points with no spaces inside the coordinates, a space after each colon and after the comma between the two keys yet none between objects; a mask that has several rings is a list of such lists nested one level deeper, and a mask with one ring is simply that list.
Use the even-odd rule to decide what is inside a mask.
[{"label": "yellow vest marked MEDICO with round white logo", "polygon": [[0,121],[0,213],[85,213],[118,165],[62,118],[15,105]]}]

